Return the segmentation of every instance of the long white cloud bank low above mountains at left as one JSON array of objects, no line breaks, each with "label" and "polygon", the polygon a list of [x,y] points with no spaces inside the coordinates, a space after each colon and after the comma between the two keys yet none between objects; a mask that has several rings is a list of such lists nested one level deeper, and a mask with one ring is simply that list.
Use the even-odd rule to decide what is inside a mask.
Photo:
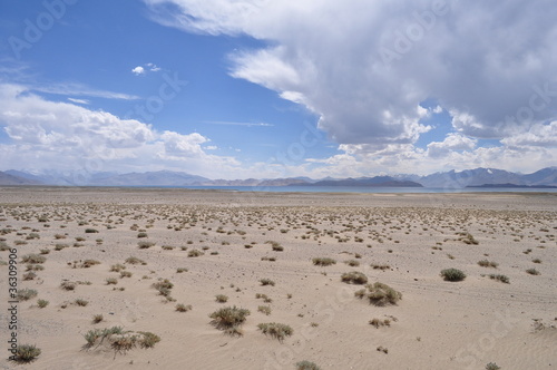
[{"label": "long white cloud bank low above mountains at left", "polygon": [[0,84],[2,169],[98,171],[174,168],[201,175],[234,173],[240,163],[208,155],[201,134],[159,133],[136,119],[47,100],[21,85]]}]

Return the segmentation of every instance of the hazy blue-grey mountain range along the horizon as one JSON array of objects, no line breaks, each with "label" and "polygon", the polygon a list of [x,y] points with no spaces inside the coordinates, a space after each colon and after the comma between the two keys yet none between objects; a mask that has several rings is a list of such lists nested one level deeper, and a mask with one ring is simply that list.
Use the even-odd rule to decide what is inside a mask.
[{"label": "hazy blue-grey mountain range along the horizon", "polygon": [[373,186],[373,187],[536,187],[557,186],[557,166],[531,174],[519,174],[496,168],[476,168],[461,172],[449,171],[427,176],[393,175],[356,178],[247,178],[209,179],[183,172],[158,171],[146,173],[59,173],[47,171],[0,172],[0,185],[55,185],[55,186]]}]

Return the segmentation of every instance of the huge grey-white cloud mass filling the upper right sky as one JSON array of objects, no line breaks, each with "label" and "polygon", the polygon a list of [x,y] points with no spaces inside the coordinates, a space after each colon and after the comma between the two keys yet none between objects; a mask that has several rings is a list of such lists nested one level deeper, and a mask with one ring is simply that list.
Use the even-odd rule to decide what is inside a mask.
[{"label": "huge grey-white cloud mass filling the upper right sky", "polygon": [[557,115],[557,4],[545,0],[144,1],[167,26],[268,41],[233,53],[232,76],[304,104],[340,144],[414,143],[427,99],[477,138]]}]

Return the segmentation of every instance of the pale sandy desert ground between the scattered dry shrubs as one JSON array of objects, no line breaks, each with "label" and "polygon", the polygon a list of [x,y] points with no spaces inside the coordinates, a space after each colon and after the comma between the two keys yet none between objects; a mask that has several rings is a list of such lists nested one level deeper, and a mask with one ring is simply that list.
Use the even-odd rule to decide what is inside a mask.
[{"label": "pale sandy desert ground between the scattered dry shrubs", "polygon": [[[38,222],[43,214],[50,227]],[[313,361],[321,369],[485,369],[488,362],[505,370],[557,368],[556,195],[3,187],[0,220],[0,230],[13,228],[0,235],[10,247],[38,230],[39,240],[16,246],[19,259],[50,250],[38,278],[19,282],[20,289],[39,292],[21,302],[18,312],[20,344],[37,344],[42,350],[29,364],[6,361],[8,267],[0,266],[4,343],[0,367],[8,369],[295,369],[301,360]],[[79,226],[79,222],[86,224]],[[133,224],[145,228],[148,237],[138,238],[138,231],[130,230]],[[224,232],[217,232],[219,226]],[[99,233],[85,233],[87,227]],[[459,232],[470,233],[479,244],[459,241]],[[55,238],[55,234],[66,233],[66,238]],[[74,247],[79,236],[86,241]],[[102,244],[97,245],[97,238]],[[139,250],[138,241],[156,245]],[[281,243],[284,251],[272,251],[265,241]],[[244,246],[252,242],[252,249]],[[58,243],[70,246],[55,251]],[[166,251],[163,245],[175,249]],[[188,251],[180,246],[208,250],[203,256],[187,257]],[[531,252],[525,254],[527,250]],[[354,260],[355,253],[361,255],[360,266],[343,263]],[[143,259],[147,265],[125,264],[131,278],[109,272],[110,265],[129,256]],[[262,261],[264,256],[276,261]],[[338,262],[320,267],[312,264],[313,257]],[[8,252],[0,252],[0,259],[7,261]],[[86,259],[101,264],[89,269],[67,265]],[[481,267],[480,260],[499,266]],[[373,270],[370,264],[391,269]],[[188,272],[177,273],[177,267]],[[440,271],[448,267],[465,271],[467,279],[443,281]],[[531,267],[540,274],[527,274]],[[19,269],[21,279],[25,264]],[[350,271],[391,285],[402,293],[402,300],[398,305],[375,306],[354,298],[361,286],[340,280]],[[510,283],[481,276],[491,273],[508,276]],[[144,275],[150,279],[141,279]],[[107,285],[109,276],[118,278],[118,284]],[[157,278],[175,284],[172,296],[176,302],[165,303],[152,288]],[[276,285],[261,286],[262,278]],[[91,284],[65,291],[60,288],[63,279]],[[256,293],[273,299],[271,315],[257,312],[265,303]],[[216,294],[228,295],[228,302],[215,302]],[[89,304],[61,308],[78,298]],[[39,309],[38,299],[50,304]],[[176,303],[192,304],[193,310],[177,312]],[[241,338],[226,335],[209,323],[208,314],[226,305],[251,311]],[[92,324],[92,315],[99,313],[105,322]],[[397,321],[389,328],[368,323],[391,315]],[[534,319],[544,329],[535,330]],[[261,322],[289,324],[294,334],[281,343],[257,330]],[[113,325],[150,331],[162,341],[154,349],[136,348],[116,356],[109,349],[101,351],[102,347],[84,349],[87,331]],[[378,347],[388,348],[388,353]]]}]

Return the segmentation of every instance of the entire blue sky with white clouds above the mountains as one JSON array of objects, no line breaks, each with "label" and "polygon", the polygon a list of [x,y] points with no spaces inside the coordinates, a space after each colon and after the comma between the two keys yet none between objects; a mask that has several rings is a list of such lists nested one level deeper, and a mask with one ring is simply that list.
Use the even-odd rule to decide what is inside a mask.
[{"label": "entire blue sky with white clouds above the mountains", "polygon": [[0,1],[0,171],[557,164],[557,4]]}]

